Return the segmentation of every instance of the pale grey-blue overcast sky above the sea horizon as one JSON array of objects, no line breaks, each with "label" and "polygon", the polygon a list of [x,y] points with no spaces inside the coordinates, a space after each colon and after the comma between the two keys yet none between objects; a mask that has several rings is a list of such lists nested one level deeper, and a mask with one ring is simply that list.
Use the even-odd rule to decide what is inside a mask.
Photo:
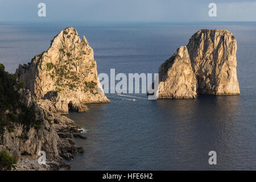
[{"label": "pale grey-blue overcast sky above the sea horizon", "polygon": [[[256,21],[255,0],[0,0],[0,21]],[[46,4],[46,17],[38,4]],[[217,17],[208,15],[216,3]]]}]

